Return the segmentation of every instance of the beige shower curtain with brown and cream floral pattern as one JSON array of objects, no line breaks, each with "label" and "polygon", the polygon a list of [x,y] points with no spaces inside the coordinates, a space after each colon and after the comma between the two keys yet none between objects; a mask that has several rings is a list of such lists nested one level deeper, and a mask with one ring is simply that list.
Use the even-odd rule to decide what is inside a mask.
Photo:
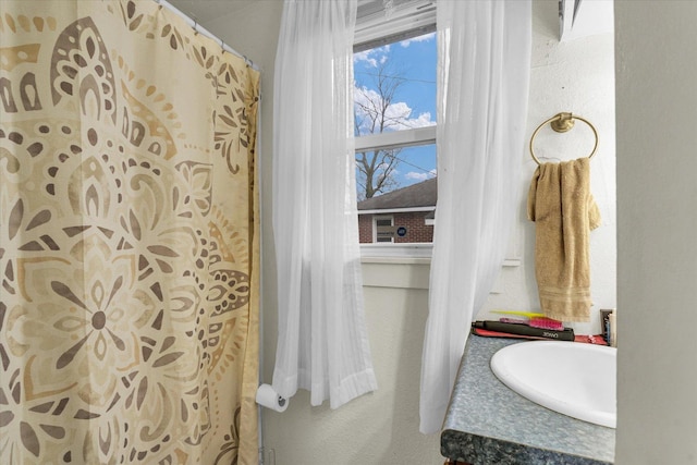
[{"label": "beige shower curtain with brown and cream floral pattern", "polygon": [[154,1],[0,9],[0,463],[257,462],[258,73]]}]

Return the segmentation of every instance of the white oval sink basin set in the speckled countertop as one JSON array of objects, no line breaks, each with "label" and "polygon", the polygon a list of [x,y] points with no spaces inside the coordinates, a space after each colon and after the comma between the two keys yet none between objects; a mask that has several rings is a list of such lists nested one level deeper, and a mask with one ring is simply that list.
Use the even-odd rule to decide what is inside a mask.
[{"label": "white oval sink basin set in the speckled countertop", "polygon": [[537,404],[614,428],[616,352],[578,342],[522,342],[493,354],[491,370],[505,386]]}]

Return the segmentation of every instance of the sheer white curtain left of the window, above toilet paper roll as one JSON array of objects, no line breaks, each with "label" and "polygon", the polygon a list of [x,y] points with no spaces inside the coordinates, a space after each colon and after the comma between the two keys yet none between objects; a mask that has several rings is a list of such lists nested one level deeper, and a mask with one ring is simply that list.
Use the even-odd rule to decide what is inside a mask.
[{"label": "sheer white curtain left of the window, above toilet paper roll", "polygon": [[377,388],[364,319],[353,142],[356,0],[285,0],[274,71],[273,388],[337,408]]}]

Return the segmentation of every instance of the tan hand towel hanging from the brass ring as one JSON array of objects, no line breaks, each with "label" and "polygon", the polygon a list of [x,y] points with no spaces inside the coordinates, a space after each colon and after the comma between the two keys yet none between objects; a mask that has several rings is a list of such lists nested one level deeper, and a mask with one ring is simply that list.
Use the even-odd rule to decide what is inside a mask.
[{"label": "tan hand towel hanging from the brass ring", "polygon": [[535,277],[542,313],[561,321],[590,320],[590,231],[600,211],[590,194],[590,160],[540,164],[527,217],[535,221]]}]

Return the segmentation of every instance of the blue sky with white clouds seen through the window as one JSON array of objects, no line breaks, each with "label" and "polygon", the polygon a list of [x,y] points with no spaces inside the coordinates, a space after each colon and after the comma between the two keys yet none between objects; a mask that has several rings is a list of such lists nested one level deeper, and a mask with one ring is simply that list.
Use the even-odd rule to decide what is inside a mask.
[{"label": "blue sky with white clouds seen through the window", "polygon": [[[389,113],[407,115],[400,129],[423,127],[436,124],[436,34],[415,37],[384,47],[354,54],[354,78],[357,88],[365,88],[371,98],[375,91],[374,76],[380,64],[398,71],[404,77]],[[364,90],[365,93],[365,90]],[[354,90],[354,98],[360,93]],[[436,175],[436,147],[408,147],[400,152],[402,162],[392,175],[399,187],[405,187]]]}]

